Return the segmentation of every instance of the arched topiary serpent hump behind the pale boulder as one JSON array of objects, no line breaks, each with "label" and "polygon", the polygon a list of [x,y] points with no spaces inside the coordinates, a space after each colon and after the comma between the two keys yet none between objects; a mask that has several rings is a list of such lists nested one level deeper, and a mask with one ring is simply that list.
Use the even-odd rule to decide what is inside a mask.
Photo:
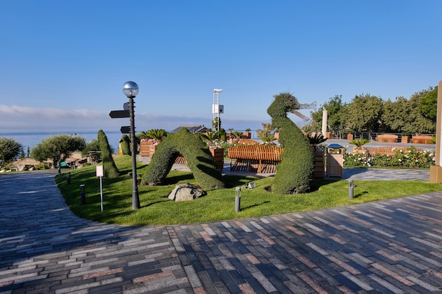
[{"label": "arched topiary serpent hump behind the pale boulder", "polygon": [[190,133],[186,128],[179,133],[169,134],[158,145],[141,183],[162,185],[180,153],[183,154],[189,169],[203,190],[225,187],[222,173],[217,169],[215,159],[207,145],[198,135]]}]

